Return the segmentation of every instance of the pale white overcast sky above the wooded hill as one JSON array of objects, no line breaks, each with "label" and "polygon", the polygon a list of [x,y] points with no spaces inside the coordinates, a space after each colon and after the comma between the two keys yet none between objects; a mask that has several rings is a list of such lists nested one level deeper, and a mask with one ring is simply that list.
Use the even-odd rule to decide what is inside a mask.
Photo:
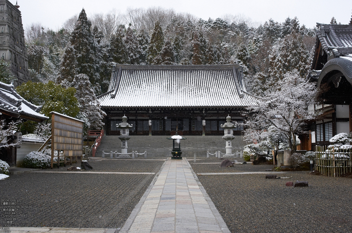
[{"label": "pale white overcast sky above the wooded hill", "polygon": [[[16,0],[10,0],[14,5]],[[107,14],[115,9],[124,14],[127,8],[161,7],[176,13],[190,13],[197,18],[216,19],[226,14],[242,15],[257,23],[270,18],[284,22],[287,17],[298,18],[300,25],[314,28],[316,23],[328,24],[332,17],[337,23],[348,24],[352,15],[351,0],[17,0],[24,29],[32,23],[58,30],[73,15],[84,8],[88,16]]]}]

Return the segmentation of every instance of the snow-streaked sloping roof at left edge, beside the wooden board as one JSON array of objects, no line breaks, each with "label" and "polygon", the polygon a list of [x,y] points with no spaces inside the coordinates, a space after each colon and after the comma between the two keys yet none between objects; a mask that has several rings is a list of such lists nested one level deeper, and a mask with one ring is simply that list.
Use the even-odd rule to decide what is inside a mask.
[{"label": "snow-streaked sloping roof at left edge, beside the wooden board", "polygon": [[12,117],[21,117],[33,121],[49,119],[39,113],[40,106],[34,105],[22,98],[13,85],[0,82],[0,112]]}]

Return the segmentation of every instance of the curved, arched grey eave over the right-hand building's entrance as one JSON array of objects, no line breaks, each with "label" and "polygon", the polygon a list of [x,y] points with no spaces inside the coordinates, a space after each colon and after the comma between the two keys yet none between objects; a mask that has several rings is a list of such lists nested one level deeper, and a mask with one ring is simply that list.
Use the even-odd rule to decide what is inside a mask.
[{"label": "curved, arched grey eave over the right-hand building's entrance", "polygon": [[348,57],[338,57],[329,60],[320,72],[317,87],[319,88],[323,78],[331,71],[340,71],[349,83],[352,84],[352,59]]}]

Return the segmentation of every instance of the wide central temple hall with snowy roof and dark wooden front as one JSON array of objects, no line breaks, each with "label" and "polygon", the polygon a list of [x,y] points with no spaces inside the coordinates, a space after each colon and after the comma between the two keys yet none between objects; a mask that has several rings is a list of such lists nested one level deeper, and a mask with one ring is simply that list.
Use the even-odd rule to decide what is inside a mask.
[{"label": "wide central temple hall with snowy roof and dark wooden front", "polygon": [[[121,65],[112,70],[108,92],[99,96],[107,113],[105,132],[119,135],[126,115],[130,135],[224,135],[229,114],[242,123],[255,103],[240,65]],[[241,135],[237,124],[234,135]]]}]

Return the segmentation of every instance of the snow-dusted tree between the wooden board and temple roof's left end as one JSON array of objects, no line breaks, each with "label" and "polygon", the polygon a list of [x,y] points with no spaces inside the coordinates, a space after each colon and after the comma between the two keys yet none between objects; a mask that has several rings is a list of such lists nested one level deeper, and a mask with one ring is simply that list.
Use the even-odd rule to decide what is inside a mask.
[{"label": "snow-dusted tree between the wooden board and temple roof's left end", "polygon": [[106,113],[101,109],[96,94],[86,74],[74,76],[71,86],[76,89],[79,113],[77,118],[84,122],[85,130],[100,130],[103,128],[102,122]]}]

